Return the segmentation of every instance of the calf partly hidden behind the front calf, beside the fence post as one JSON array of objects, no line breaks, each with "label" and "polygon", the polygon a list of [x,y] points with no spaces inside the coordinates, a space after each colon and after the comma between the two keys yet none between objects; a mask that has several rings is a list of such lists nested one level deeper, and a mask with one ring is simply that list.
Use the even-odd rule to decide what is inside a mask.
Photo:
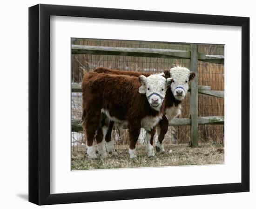
[{"label": "calf partly hidden behind the front calf, beside the fence post", "polygon": [[[147,72],[135,72],[135,71],[121,71],[121,70],[111,70],[104,67],[99,67],[94,70],[97,73],[109,73],[109,74],[118,74],[118,75],[128,75],[139,77],[141,74],[145,76],[149,76],[150,73]],[[186,67],[173,67],[170,70],[164,71],[166,78],[172,78],[173,82],[170,87],[166,91],[165,97],[165,114],[162,119],[157,124],[157,132],[158,132],[158,141],[156,144],[156,151],[164,152],[163,140],[166,132],[168,131],[169,121],[173,118],[176,118],[181,114],[181,103],[185,98],[188,89],[189,89],[189,81],[193,80],[195,77],[195,72],[190,72]],[[110,121],[109,126],[104,127],[106,131],[105,141],[108,151],[112,153],[112,155],[116,155],[114,145],[111,141],[111,131],[113,128],[114,122]],[[155,128],[151,131],[151,140],[150,144],[153,144]]]}]

